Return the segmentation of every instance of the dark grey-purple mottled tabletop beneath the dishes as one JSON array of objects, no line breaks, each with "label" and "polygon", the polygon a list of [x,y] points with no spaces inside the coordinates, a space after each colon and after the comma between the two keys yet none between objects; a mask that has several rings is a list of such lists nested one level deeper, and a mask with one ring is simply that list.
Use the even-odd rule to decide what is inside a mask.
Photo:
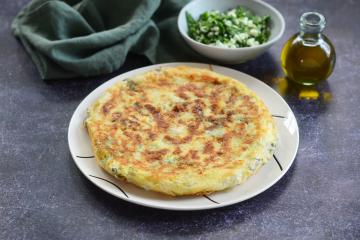
[{"label": "dark grey-purple mottled tabletop beneath the dishes", "polygon": [[[47,84],[10,34],[25,2],[2,0],[0,8],[0,239],[360,239],[360,2],[268,1],[286,18],[281,42],[301,12],[328,17],[338,58],[321,92],[332,101],[287,94],[300,127],[293,167],[251,200],[202,212],[132,205],[81,175],[67,146],[73,111],[111,76],[147,63],[131,57],[111,76]],[[280,49],[234,67],[273,85]]]}]

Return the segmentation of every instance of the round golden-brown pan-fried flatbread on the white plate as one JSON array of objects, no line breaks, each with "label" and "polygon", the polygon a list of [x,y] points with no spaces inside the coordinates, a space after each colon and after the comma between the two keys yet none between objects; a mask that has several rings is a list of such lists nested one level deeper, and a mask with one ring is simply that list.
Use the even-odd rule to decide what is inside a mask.
[{"label": "round golden-brown pan-fried flatbread on the white plate", "polygon": [[166,67],[120,81],[88,112],[97,163],[117,178],[172,196],[244,182],[277,142],[261,99],[206,69]]}]

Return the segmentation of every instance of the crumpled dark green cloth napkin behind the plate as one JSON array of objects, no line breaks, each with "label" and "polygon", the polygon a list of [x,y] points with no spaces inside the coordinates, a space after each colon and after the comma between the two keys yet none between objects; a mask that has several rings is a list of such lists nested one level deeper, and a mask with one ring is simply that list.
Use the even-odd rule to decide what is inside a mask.
[{"label": "crumpled dark green cloth napkin behind the plate", "polygon": [[12,23],[43,79],[117,70],[129,52],[151,62],[199,60],[177,30],[186,0],[33,0]]}]

